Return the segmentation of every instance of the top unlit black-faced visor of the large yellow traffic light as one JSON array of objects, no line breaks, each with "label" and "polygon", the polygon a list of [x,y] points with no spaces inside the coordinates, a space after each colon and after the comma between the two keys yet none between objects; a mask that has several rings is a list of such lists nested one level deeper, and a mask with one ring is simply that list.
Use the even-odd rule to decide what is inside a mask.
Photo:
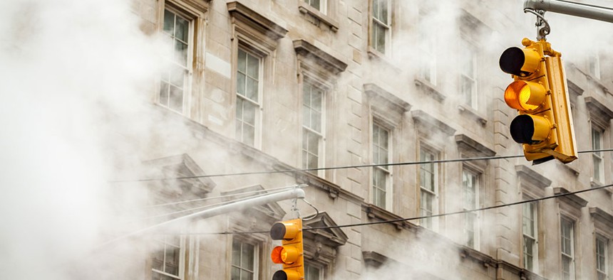
[{"label": "top unlit black-faced visor of the large yellow traffic light", "polygon": [[525,77],[535,72],[540,63],[540,55],[533,48],[511,47],[500,55],[500,69],[511,75]]}]

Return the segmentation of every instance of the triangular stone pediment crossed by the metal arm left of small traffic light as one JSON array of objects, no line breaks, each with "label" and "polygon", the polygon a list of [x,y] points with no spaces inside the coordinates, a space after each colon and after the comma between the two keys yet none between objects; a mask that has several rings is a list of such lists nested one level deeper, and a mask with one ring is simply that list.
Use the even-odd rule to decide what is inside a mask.
[{"label": "triangular stone pediment crossed by the metal arm left of small traffic light", "polygon": [[[227,197],[225,200],[229,202],[232,200],[247,199],[263,193],[268,193],[268,191],[265,190],[262,185],[249,185],[244,188],[237,188],[235,190],[222,192],[220,195]],[[242,210],[240,211],[239,215],[241,217],[252,217],[258,222],[266,222],[267,224],[272,225],[272,223],[281,220],[285,214],[286,212],[283,210],[283,208],[281,208],[278,203],[273,202]]]}]

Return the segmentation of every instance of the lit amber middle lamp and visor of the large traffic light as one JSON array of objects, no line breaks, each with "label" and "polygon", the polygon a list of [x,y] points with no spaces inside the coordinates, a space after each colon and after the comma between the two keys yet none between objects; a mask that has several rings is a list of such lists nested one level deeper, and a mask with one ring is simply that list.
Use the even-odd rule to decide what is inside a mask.
[{"label": "lit amber middle lamp and visor of the large traffic light", "polygon": [[535,110],[545,102],[545,87],[537,82],[512,82],[505,90],[505,102],[513,109]]}]

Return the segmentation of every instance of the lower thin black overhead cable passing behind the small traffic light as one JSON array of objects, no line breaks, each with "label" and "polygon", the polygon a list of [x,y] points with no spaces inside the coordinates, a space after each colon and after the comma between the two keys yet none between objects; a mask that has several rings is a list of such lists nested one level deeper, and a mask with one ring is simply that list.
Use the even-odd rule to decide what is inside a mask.
[{"label": "lower thin black overhead cable passing behind the small traffic light", "polygon": [[[599,187],[595,187],[595,188],[587,188],[585,190],[577,190],[574,192],[570,192],[570,193],[558,193],[557,195],[550,195],[550,196],[545,196],[543,198],[535,198],[535,199],[530,199],[530,200],[522,200],[522,201],[517,201],[515,203],[507,203],[507,204],[501,204],[501,205],[494,205],[494,206],[488,206],[485,208],[478,208],[478,209],[473,209],[473,210],[461,210],[461,211],[456,211],[456,212],[447,212],[447,213],[441,213],[441,214],[436,214],[436,215],[426,215],[426,216],[419,216],[419,217],[408,217],[408,218],[400,218],[400,219],[393,219],[393,220],[381,220],[381,221],[376,221],[376,222],[361,222],[361,223],[357,223],[357,224],[347,224],[347,225],[334,225],[334,226],[327,226],[327,227],[304,227],[303,230],[326,230],[326,229],[332,229],[332,228],[343,228],[343,227],[362,227],[365,225],[380,225],[380,224],[387,224],[387,223],[393,223],[393,222],[407,222],[407,221],[411,221],[411,220],[422,220],[422,219],[428,219],[428,218],[433,218],[433,217],[445,217],[445,216],[450,216],[450,215],[458,215],[458,214],[464,214],[464,213],[470,213],[470,212],[479,212],[479,211],[485,211],[485,210],[492,210],[492,209],[497,209],[497,208],[504,208],[504,207],[509,207],[509,206],[513,206],[513,205],[520,205],[523,203],[534,203],[537,201],[541,201],[541,200],[548,200],[548,199],[552,199],[552,198],[561,198],[567,195],[576,195],[577,193],[586,193],[592,190],[602,190],[604,188],[610,188],[612,187],[613,184],[610,185],[602,185]],[[268,231],[252,231],[252,232],[191,232],[191,233],[181,233],[180,235],[249,235],[249,234],[255,234],[255,233],[267,233]]]}]

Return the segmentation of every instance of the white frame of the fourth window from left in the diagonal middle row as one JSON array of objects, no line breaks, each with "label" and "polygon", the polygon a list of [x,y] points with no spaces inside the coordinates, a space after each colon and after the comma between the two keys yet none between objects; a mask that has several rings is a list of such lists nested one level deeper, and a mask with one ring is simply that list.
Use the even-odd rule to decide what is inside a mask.
[{"label": "white frame of the fourth window from left in the diagonal middle row", "polygon": [[[375,142],[374,142],[374,132],[375,132],[375,126],[377,126],[380,130],[386,131],[387,133],[387,162],[386,163],[391,163],[393,161],[393,129],[390,128],[390,126],[384,124],[384,122],[381,119],[378,119],[376,117],[373,117],[373,120],[371,122],[371,134],[370,134],[370,143],[371,143],[371,156],[373,156],[372,158],[372,162],[374,164],[385,164],[385,163],[379,163],[379,162],[375,162],[375,158],[374,158],[374,152],[375,152]],[[373,168],[371,169],[371,188],[370,188],[370,201],[372,202],[373,205],[376,205],[379,208],[391,211],[393,210],[393,171],[392,171],[392,167],[391,166],[373,166]],[[386,178],[386,182],[385,182],[385,198],[384,198],[384,203],[385,205],[381,206],[378,205],[378,203],[376,203],[375,200],[375,191],[378,188],[377,185],[375,185],[375,172],[376,171],[381,171],[383,172],[383,175]],[[381,189],[381,188],[378,188]]]}]

